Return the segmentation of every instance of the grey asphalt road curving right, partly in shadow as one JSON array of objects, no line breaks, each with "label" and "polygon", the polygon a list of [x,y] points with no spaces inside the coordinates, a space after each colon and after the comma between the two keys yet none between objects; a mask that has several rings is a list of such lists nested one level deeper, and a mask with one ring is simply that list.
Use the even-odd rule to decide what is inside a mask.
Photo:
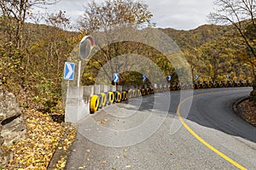
[{"label": "grey asphalt road curving right, partly in shadow", "polygon": [[105,107],[79,122],[66,168],[256,169],[256,129],[232,111],[251,90],[195,90],[193,99],[175,91]]}]

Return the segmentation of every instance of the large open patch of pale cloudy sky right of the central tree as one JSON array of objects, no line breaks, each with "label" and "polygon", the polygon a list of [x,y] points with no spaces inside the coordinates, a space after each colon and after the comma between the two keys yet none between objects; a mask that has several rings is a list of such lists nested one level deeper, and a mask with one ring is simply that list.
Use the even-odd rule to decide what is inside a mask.
[{"label": "large open patch of pale cloudy sky right of the central tree", "polygon": [[210,0],[161,0],[148,1],[159,27],[189,30],[207,23],[207,14],[212,11]]}]

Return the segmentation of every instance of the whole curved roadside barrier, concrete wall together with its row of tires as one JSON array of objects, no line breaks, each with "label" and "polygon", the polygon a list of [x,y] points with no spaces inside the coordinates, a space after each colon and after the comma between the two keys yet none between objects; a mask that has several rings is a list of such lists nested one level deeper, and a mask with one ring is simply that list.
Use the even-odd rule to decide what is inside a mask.
[{"label": "whole curved roadside barrier, concrete wall together with its row of tires", "polygon": [[186,82],[134,86],[95,85],[67,88],[65,122],[77,124],[85,116],[114,103],[167,91],[200,88],[252,87],[251,81]]}]

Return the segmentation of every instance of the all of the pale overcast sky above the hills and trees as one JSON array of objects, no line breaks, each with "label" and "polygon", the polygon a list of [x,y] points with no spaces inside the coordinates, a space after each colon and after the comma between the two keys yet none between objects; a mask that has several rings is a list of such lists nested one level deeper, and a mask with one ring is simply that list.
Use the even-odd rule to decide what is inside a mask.
[{"label": "all of the pale overcast sky above the hills and trees", "polygon": [[[65,10],[67,18],[73,23],[84,14],[84,6],[90,0],[61,0],[60,3],[48,7],[49,13]],[[103,2],[103,0],[96,0]],[[209,24],[207,14],[212,11],[212,0],[145,0],[149,10],[154,15],[153,21],[157,27],[190,30]],[[38,10],[38,9],[37,9]],[[44,10],[44,9],[40,9]]]}]

